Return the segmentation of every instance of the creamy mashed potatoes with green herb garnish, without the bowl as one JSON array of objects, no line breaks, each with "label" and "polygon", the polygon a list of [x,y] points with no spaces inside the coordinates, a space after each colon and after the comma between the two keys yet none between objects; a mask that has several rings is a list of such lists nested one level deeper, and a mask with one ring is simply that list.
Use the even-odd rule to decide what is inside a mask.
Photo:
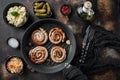
[{"label": "creamy mashed potatoes with green herb garnish, without the bowl", "polygon": [[20,27],[26,22],[26,13],[25,7],[14,6],[8,10],[6,18],[9,24]]}]

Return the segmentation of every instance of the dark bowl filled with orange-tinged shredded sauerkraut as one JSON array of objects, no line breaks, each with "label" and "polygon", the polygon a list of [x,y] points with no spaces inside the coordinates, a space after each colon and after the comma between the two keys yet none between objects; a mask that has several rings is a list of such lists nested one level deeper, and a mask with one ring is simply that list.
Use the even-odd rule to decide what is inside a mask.
[{"label": "dark bowl filled with orange-tinged shredded sauerkraut", "polygon": [[23,74],[25,63],[21,57],[9,56],[6,60],[5,67],[11,74]]}]

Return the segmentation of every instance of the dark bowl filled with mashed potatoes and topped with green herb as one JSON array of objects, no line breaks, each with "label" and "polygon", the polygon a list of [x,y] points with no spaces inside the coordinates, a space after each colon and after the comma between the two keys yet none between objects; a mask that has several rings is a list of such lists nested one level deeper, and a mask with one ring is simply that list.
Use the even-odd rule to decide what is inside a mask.
[{"label": "dark bowl filled with mashed potatoes and topped with green herb", "polygon": [[29,13],[23,4],[10,3],[4,9],[3,18],[7,24],[21,27],[27,22]]}]

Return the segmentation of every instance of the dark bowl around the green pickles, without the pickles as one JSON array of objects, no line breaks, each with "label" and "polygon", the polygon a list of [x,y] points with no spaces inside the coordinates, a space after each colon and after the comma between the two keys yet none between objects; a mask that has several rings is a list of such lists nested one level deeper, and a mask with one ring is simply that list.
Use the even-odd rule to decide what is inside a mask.
[{"label": "dark bowl around the green pickles, without the pickles", "polygon": [[[41,2],[43,2],[44,4],[45,3],[48,3],[47,1],[35,1],[34,3],[33,3],[33,12],[34,12],[34,15],[36,14],[36,12],[34,11],[34,5],[35,5],[35,3],[41,3]],[[49,4],[49,3],[48,3]],[[49,6],[50,6],[50,4],[49,4]],[[43,7],[43,6],[42,6]],[[51,6],[50,6],[50,8],[51,8]],[[41,9],[41,8],[40,8]],[[41,13],[42,14],[42,13]],[[44,14],[44,13],[43,13]],[[50,17],[52,17],[52,8],[51,8],[51,11],[50,11],[50,13],[47,15],[47,16],[37,16],[37,15],[35,15],[35,16],[37,16],[38,18],[41,18],[41,19],[43,19],[43,18],[50,18]]]}]

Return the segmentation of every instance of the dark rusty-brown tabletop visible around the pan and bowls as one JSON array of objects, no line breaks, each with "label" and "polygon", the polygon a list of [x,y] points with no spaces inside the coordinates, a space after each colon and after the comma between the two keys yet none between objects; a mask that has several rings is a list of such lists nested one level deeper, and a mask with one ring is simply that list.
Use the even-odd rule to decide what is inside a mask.
[{"label": "dark rusty-brown tabletop visible around the pan and bowls", "polygon": [[[24,75],[18,76],[18,75],[11,75],[9,74],[5,67],[4,63],[6,61],[6,58],[8,56],[13,56],[17,55],[22,57],[22,52],[21,48],[20,49],[13,49],[7,45],[7,39],[9,37],[15,37],[20,41],[22,41],[22,37],[24,35],[24,32],[29,25],[31,25],[33,22],[39,20],[33,13],[33,2],[36,0],[1,0],[0,1],[0,80],[65,80],[62,72],[58,72],[55,74],[43,74],[43,73],[38,73],[38,72],[32,72],[29,69],[26,69],[26,72]],[[75,14],[75,9],[77,6],[81,5],[82,0],[46,0],[51,4],[51,7],[53,8],[53,13],[55,19],[59,19],[61,22],[64,24],[67,24],[68,27],[70,27],[75,34],[81,33],[82,27],[84,22],[82,21],[81,18],[79,18]],[[91,0],[95,1],[95,0]],[[98,5],[98,13],[95,14],[95,17],[92,22],[95,24],[103,26],[106,30],[113,31],[115,33],[119,33],[120,28],[117,24],[119,24],[118,20],[118,15],[115,14],[116,16],[113,16],[111,14],[114,14],[114,9],[118,8],[113,3],[114,0],[98,0],[100,4],[103,5]],[[20,2],[24,4],[29,13],[30,13],[30,19],[28,20],[28,23],[21,27],[21,28],[14,28],[9,25],[7,25],[4,20],[3,20],[3,11],[4,8],[12,2]],[[63,16],[60,13],[60,7],[62,4],[70,4],[72,6],[72,15],[70,18]],[[111,7],[108,5],[106,6],[105,4],[110,4],[114,5],[114,9],[111,10]],[[102,7],[101,7],[102,6]],[[95,7],[95,6],[93,6]],[[110,9],[109,9],[110,8]],[[119,10],[116,10],[115,13],[118,13]],[[107,13],[107,14],[106,14]],[[109,14],[108,14],[109,13]],[[81,41],[79,41],[79,44],[81,44]],[[97,80],[97,79],[96,79]]]}]

